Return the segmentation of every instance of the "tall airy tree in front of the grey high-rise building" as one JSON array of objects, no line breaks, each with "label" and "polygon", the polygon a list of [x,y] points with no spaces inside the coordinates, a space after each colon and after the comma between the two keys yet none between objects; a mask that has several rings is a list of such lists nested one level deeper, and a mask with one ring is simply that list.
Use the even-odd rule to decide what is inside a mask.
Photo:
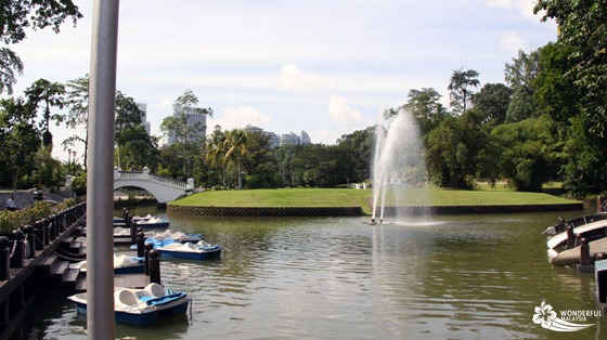
[{"label": "tall airy tree in front of the grey high-rise building", "polygon": [[173,104],[173,116],[166,117],[160,125],[160,130],[168,134],[170,139],[175,141],[176,147],[181,151],[181,160],[183,166],[183,175],[191,174],[191,169],[188,167],[189,162],[193,160],[193,156],[197,153],[204,140],[194,138],[196,132],[201,130],[206,130],[199,121],[191,119],[191,115],[209,115],[212,116],[211,108],[199,108],[198,97],[192,92],[192,90],[185,90],[185,92],[178,96]]}]

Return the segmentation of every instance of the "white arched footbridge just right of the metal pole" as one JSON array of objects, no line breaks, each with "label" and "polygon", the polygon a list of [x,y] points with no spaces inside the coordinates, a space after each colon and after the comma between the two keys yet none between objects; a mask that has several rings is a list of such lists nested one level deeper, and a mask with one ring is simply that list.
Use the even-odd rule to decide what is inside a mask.
[{"label": "white arched footbridge just right of the metal pole", "polygon": [[150,192],[159,204],[166,204],[178,199],[180,196],[190,195],[194,192],[194,179],[188,182],[164,178],[150,173],[147,167],[143,171],[121,171],[114,168],[114,189],[135,186]]}]

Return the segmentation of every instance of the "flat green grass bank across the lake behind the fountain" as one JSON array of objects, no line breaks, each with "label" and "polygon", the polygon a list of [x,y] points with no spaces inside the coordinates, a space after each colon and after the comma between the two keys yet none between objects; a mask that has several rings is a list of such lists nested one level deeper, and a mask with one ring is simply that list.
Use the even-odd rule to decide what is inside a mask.
[{"label": "flat green grass bank across the lake behind the fountain", "polygon": [[[400,196],[400,198],[397,198]],[[371,213],[371,189],[283,188],[204,192],[169,202],[177,206],[214,207],[356,207]],[[456,191],[442,188],[389,191],[386,206],[501,206],[557,205],[573,202],[548,194],[512,191]]]}]

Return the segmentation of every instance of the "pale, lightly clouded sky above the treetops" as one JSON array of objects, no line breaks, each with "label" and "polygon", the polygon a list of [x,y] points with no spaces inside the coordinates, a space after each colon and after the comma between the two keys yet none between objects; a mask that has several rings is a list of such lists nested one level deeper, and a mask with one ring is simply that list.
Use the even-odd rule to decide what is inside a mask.
[{"label": "pale, lightly clouded sky above the treetops", "polygon": [[[13,45],[24,62],[14,96],[40,78],[66,82],[90,71],[92,1],[60,34],[29,31]],[[305,130],[335,144],[435,88],[449,105],[454,70],[476,69],[481,84],[504,82],[519,50],[556,40],[556,25],[533,0],[126,0],[120,1],[117,90],[147,104],[152,134],[192,90],[210,107],[207,132],[258,126]],[[51,129],[53,155],[82,130]],[[83,146],[75,147],[81,161]]]}]

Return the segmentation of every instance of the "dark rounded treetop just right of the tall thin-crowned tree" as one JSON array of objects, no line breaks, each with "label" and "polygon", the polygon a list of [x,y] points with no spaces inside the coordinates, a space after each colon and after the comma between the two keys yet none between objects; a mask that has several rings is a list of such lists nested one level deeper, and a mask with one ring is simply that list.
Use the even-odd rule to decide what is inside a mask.
[{"label": "dark rounded treetop just right of the tall thin-crowned tree", "polygon": [[485,116],[483,122],[501,125],[506,120],[513,90],[503,83],[486,83],[475,94],[473,103]]}]

